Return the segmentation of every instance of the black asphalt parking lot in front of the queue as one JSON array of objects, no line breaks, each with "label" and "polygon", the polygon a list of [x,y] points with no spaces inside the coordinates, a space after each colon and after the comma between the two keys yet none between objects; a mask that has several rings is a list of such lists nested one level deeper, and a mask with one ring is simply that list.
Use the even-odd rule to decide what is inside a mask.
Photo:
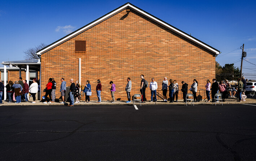
[{"label": "black asphalt parking lot in front of the queue", "polygon": [[255,105],[1,106],[0,160],[256,160]]}]

